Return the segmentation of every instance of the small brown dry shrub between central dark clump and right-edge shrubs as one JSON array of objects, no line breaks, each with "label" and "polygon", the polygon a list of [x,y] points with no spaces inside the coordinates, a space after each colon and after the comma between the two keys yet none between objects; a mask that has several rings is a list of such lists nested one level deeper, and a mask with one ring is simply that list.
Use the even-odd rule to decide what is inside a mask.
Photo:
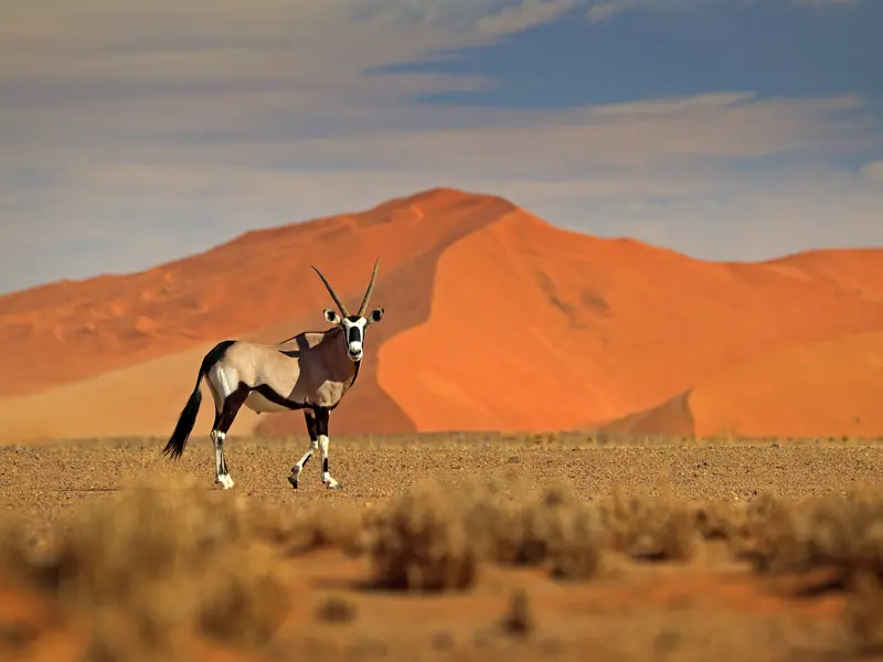
[{"label": "small brown dry shrub between central dark clump and right-edge shrubs", "polygon": [[693,514],[670,494],[657,499],[625,496],[616,489],[599,509],[615,551],[645,560],[687,560],[693,556]]}]

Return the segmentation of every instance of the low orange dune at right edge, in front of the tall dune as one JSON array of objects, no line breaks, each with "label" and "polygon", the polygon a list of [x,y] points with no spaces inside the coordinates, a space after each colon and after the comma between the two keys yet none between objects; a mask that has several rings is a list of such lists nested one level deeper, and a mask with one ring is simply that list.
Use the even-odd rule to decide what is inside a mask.
[{"label": "low orange dune at right edge, in front of the tall dune", "polygon": [[797,344],[721,371],[607,431],[700,437],[876,437],[883,333]]}]

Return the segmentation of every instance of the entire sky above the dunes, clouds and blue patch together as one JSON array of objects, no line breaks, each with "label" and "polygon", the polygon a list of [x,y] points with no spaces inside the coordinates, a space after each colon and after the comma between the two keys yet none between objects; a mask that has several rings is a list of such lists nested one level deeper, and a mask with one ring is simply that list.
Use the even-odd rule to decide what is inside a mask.
[{"label": "entire sky above the dunes, clouds and blue patch together", "polygon": [[433,186],[705,259],[883,246],[880,0],[8,0],[0,293]]}]

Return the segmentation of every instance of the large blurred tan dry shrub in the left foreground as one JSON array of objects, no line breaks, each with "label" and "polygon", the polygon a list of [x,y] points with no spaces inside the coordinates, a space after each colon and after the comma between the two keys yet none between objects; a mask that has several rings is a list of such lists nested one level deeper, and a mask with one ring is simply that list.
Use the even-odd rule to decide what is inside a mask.
[{"label": "large blurred tan dry shrub in the left foreground", "polygon": [[95,608],[96,659],[130,659],[132,642],[158,651],[179,626],[254,645],[289,607],[272,522],[221,492],[135,490],[81,515],[47,549],[7,536],[0,572],[68,609]]}]

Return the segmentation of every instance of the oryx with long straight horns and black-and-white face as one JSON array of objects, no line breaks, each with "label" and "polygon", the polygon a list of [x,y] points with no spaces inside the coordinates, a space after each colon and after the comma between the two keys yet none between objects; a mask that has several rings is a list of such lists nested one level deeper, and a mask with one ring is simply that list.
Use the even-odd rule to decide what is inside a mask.
[{"label": "oryx with long straight horns and black-and-white face", "polygon": [[328,419],[359,375],[365,330],[383,318],[383,308],[375,308],[364,317],[379,263],[380,258],[374,263],[371,281],[357,314],[349,313],[334,288],[319,269],[312,267],[343,316],[325,310],[325,319],[333,324],[332,328],[299,333],[275,345],[236,340],[216,344],[202,360],[196,385],[162,453],[178,459],[184,451],[202,402],[200,384],[208,376],[215,406],[210,435],[214,444],[215,483],[224,489],[233,487],[224,459],[224,438],[240,407],[245,405],[258,414],[304,409],[310,447],[291,468],[288,482],[297,489],[304,466],[318,448],[322,455],[322,482],[332,490],[342,488],[328,472]]}]

